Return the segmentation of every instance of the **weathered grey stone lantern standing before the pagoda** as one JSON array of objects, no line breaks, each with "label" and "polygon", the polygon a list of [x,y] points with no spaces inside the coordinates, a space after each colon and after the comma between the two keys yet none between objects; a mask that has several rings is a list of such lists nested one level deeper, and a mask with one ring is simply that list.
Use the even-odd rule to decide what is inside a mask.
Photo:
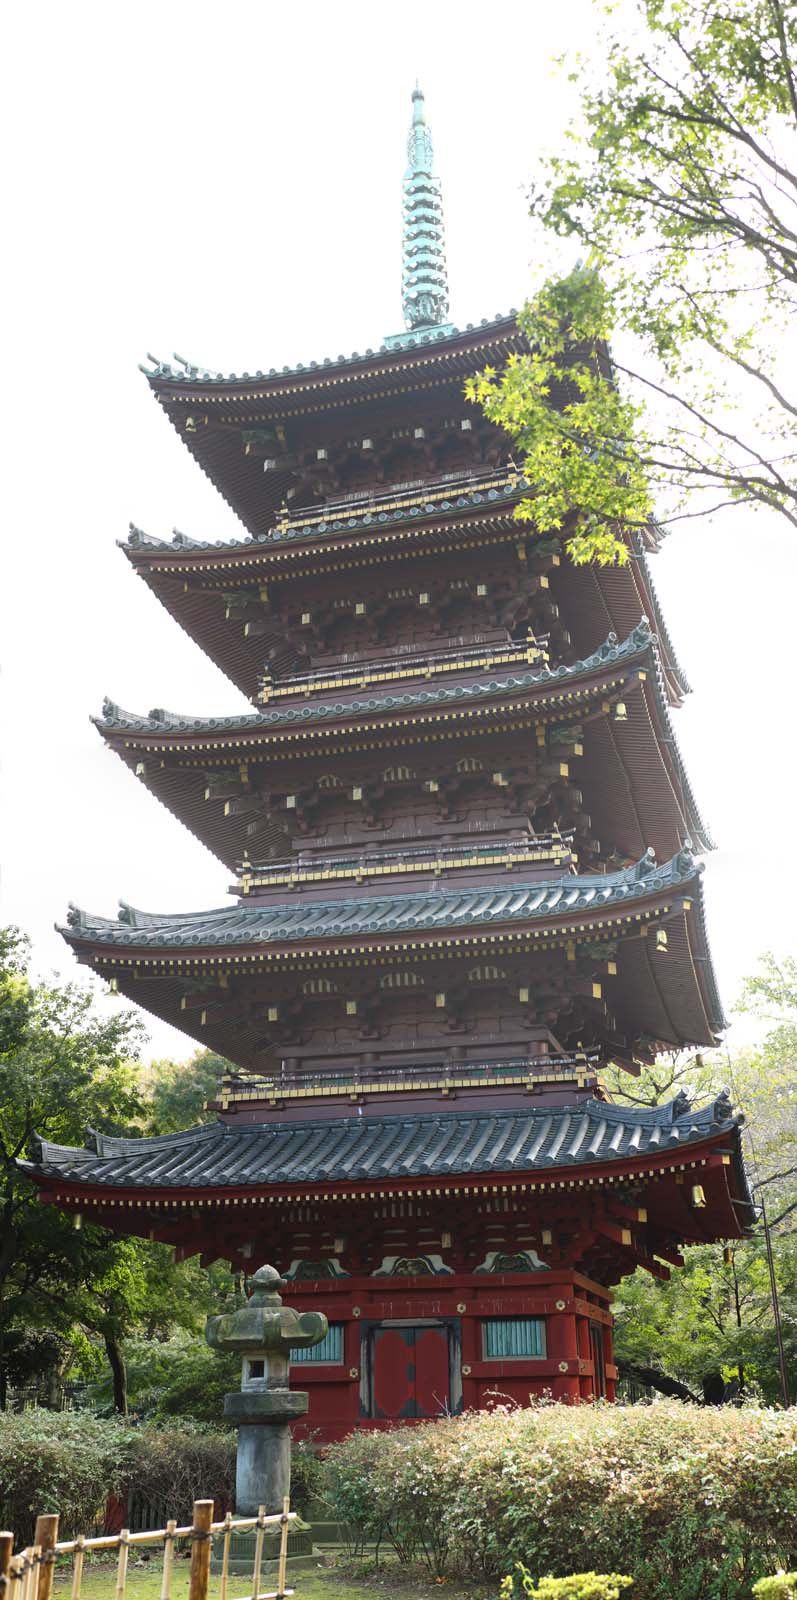
[{"label": "weathered grey stone lantern standing before the pagoda", "polygon": [[322,1312],[282,1304],[285,1278],[275,1267],[258,1267],[248,1278],[250,1299],[240,1310],[208,1317],[205,1338],[214,1350],[242,1358],[240,1392],[224,1395],[224,1416],[238,1429],[235,1510],[253,1517],[259,1506],[282,1510],[291,1483],[288,1424],[307,1411],[307,1394],[288,1389],[291,1349],[307,1349],[326,1338]]}]

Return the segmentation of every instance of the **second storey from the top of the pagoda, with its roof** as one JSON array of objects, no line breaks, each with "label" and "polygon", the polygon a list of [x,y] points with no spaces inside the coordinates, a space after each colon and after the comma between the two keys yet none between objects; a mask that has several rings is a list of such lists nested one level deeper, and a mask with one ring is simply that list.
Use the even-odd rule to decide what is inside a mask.
[{"label": "second storey from the top of the pagoda, with its roof", "polygon": [[184,534],[165,542],[131,528],[123,549],[170,614],[258,706],[347,680],[445,675],[447,653],[495,667],[570,664],[610,629],[624,638],[643,614],[656,624],[666,694],[677,704],[688,685],[643,539],[623,568],[576,570],[555,541],[517,522],[525,491],[509,467],[291,514],[245,542],[200,544]]}]

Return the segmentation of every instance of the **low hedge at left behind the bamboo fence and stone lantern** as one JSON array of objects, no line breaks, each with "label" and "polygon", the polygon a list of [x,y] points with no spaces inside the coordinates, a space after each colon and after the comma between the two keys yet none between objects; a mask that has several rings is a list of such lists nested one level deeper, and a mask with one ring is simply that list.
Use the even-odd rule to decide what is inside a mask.
[{"label": "low hedge at left behind the bamboo fence and stone lantern", "polygon": [[[291,1499],[315,1496],[320,1466],[310,1445],[293,1451]],[[61,1514],[62,1538],[102,1530],[106,1507],[134,1491],[163,1517],[190,1522],[195,1499],[222,1514],[235,1504],[235,1435],[181,1422],[126,1427],[82,1411],[0,1413],[0,1526],[29,1544],[38,1512]]]}]

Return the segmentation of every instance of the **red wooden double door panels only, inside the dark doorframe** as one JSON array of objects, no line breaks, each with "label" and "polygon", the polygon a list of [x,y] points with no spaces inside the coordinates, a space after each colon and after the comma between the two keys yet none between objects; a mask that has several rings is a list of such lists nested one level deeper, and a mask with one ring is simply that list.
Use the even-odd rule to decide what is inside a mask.
[{"label": "red wooden double door panels only, inside the dark doorframe", "polygon": [[450,1410],[450,1338],[440,1325],[371,1333],[371,1416],[440,1416]]}]

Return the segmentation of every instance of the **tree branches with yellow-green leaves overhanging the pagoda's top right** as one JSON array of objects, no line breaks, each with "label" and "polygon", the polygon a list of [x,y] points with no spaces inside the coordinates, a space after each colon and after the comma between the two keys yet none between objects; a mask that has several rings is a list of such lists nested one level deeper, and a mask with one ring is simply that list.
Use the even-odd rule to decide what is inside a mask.
[{"label": "tree branches with yellow-green leaves overhanging the pagoda's top right", "polygon": [[581,126],[530,195],[586,264],[525,307],[533,354],[471,384],[522,453],[522,515],[563,530],[575,560],[623,560],[616,534],[653,501],[664,520],[762,504],[797,526],[778,358],[797,309],[797,11],[637,0],[634,16],[576,61]]}]

